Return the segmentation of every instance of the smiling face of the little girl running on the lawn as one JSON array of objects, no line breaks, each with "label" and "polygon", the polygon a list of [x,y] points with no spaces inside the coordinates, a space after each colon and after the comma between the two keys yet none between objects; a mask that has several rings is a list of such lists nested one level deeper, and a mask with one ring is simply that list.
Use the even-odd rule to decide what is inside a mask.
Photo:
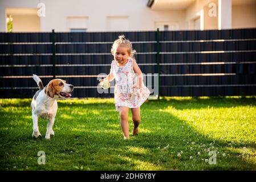
[{"label": "smiling face of the little girl running on the lawn", "polygon": [[121,44],[115,49],[113,56],[115,56],[115,60],[118,64],[124,65],[127,63],[128,57],[130,56],[128,53],[128,47]]}]

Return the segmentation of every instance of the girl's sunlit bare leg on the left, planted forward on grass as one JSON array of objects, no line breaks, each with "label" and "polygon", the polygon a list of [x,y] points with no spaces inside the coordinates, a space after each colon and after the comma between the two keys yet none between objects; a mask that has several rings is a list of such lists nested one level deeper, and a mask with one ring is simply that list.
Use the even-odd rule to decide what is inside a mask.
[{"label": "girl's sunlit bare leg on the left, planted forward on grass", "polygon": [[125,106],[119,107],[121,128],[123,131],[124,139],[129,139],[129,123],[128,123],[129,108]]}]

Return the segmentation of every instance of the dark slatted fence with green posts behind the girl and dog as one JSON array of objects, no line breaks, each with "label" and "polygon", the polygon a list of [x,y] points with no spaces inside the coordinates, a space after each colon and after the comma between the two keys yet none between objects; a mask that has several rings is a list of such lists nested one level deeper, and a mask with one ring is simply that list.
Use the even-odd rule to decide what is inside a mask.
[{"label": "dark slatted fence with green posts behind the girl and dog", "polygon": [[148,32],[0,33],[0,97],[32,97],[32,74],[75,85],[74,97],[97,92],[109,73],[112,43],[124,34],[145,74],[159,73],[160,96],[256,94],[256,29]]}]

